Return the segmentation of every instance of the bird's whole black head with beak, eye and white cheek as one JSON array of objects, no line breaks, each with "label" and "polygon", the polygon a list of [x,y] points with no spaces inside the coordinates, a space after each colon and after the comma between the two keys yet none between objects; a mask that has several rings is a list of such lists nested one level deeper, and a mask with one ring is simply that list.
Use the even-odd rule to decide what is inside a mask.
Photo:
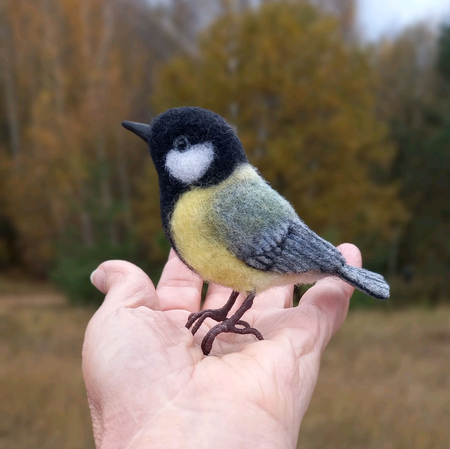
[{"label": "bird's whole black head with beak, eye and white cheek", "polygon": [[221,116],[206,109],[178,107],[163,112],[150,125],[122,125],[148,143],[160,181],[207,187],[223,181],[237,165],[247,162],[233,129]]}]

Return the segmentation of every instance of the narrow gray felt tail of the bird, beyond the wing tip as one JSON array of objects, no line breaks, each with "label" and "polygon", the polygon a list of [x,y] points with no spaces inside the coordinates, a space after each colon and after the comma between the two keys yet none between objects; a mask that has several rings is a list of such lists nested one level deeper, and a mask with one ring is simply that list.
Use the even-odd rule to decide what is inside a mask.
[{"label": "narrow gray felt tail of the bird, beyond the wing tip", "polygon": [[364,268],[344,265],[337,273],[347,284],[377,299],[389,298],[389,285],[384,277]]}]

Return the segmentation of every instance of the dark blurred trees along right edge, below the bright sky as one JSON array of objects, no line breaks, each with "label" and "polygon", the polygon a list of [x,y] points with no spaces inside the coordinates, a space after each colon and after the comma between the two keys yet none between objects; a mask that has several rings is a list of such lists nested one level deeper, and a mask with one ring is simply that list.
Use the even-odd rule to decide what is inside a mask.
[{"label": "dark blurred trees along right edge, below the bright sky", "polygon": [[450,29],[406,30],[378,54],[379,112],[389,120],[396,158],[392,178],[409,218],[398,235],[397,268],[410,297],[449,297]]}]

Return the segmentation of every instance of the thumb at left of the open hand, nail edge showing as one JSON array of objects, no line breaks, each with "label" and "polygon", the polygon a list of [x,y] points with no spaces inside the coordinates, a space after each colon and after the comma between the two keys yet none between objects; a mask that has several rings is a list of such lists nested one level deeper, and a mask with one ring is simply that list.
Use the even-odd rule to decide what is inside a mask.
[{"label": "thumb at left of the open hand, nail edge showing", "polygon": [[146,306],[159,309],[159,300],[152,281],[144,271],[130,262],[103,262],[92,272],[90,280],[106,295],[104,307]]}]

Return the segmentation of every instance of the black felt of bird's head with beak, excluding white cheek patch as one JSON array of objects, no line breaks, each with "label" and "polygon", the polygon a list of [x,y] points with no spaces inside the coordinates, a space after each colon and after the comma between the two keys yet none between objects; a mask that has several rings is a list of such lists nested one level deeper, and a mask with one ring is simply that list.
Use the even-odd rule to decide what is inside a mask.
[{"label": "black felt of bird's head with beak, excluding white cheek patch", "polygon": [[[151,125],[122,125],[148,142],[161,182],[180,182],[167,173],[166,156],[174,148],[183,151],[198,144],[211,144],[214,156],[201,178],[190,185],[207,187],[226,179],[237,165],[247,162],[239,138],[225,120],[199,107],[177,107],[157,116]],[[170,179],[169,179],[170,178]]]}]

